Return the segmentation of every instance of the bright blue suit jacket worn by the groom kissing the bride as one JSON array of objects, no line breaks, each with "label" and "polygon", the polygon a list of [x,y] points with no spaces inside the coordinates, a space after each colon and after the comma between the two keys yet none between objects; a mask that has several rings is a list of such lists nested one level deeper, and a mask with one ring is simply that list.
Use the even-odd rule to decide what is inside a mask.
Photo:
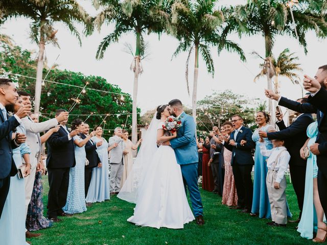
[{"label": "bright blue suit jacket worn by the groom kissing the bride", "polygon": [[177,137],[170,140],[170,145],[175,150],[178,164],[196,163],[199,161],[199,155],[195,136],[195,121],[192,116],[185,112],[180,115],[179,119],[182,126],[177,131]]}]

